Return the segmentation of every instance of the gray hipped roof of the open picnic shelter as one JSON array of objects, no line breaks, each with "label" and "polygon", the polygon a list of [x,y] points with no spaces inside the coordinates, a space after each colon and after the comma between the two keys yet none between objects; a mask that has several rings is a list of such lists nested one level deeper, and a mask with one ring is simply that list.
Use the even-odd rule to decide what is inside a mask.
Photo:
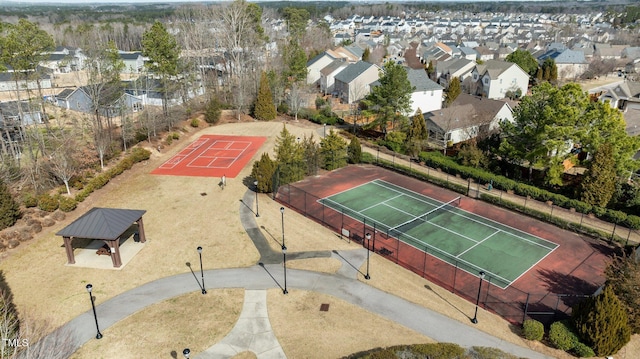
[{"label": "gray hipped roof of the open picnic shelter", "polygon": [[147,211],[94,207],[64,227],[57,236],[115,240]]}]

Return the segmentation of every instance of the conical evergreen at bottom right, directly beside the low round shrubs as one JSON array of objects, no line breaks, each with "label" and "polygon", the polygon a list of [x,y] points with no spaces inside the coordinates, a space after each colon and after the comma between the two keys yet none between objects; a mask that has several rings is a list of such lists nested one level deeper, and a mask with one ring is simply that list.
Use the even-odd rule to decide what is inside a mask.
[{"label": "conical evergreen at bottom right, directly beside the low round shrubs", "polygon": [[617,353],[631,339],[627,313],[611,286],[580,302],[571,317],[580,339],[598,356]]}]

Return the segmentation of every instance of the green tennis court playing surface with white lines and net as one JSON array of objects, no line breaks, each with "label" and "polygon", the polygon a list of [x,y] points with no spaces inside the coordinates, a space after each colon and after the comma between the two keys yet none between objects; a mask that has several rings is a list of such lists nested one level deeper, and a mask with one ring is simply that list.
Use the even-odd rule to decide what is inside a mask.
[{"label": "green tennis court playing surface with white lines and net", "polygon": [[320,199],[324,205],[473,275],[507,288],[557,244],[433,198],[374,180]]}]

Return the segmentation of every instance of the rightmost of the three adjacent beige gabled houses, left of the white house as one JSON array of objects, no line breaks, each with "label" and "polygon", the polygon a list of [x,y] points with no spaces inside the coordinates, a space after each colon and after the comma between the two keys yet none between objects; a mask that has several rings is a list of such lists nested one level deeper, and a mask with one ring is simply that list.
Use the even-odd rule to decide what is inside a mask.
[{"label": "rightmost of the three adjacent beige gabled houses, left of the white house", "polygon": [[351,104],[369,94],[370,85],[378,80],[380,68],[365,61],[345,67],[335,76],[334,91],[343,103]]}]

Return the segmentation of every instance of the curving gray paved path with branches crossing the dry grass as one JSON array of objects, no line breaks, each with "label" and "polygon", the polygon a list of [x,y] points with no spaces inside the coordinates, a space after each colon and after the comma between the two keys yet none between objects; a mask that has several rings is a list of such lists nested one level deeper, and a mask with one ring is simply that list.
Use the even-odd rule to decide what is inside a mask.
[{"label": "curving gray paved path with branches crossing the dry grass", "polygon": [[[205,271],[207,278],[215,278],[215,280],[207,282],[207,289],[244,288],[246,294],[242,314],[233,330],[222,341],[203,353],[196,353],[195,358],[230,358],[246,350],[253,351],[260,359],[286,357],[271,331],[266,313],[265,292],[271,288],[282,288],[284,273],[282,265],[277,261],[280,256],[270,248],[264,247],[263,244],[267,244],[266,238],[262,232],[255,230],[257,225],[255,214],[251,211],[252,197],[252,192],[245,194],[243,202],[240,204],[240,215],[242,223],[254,243],[259,249],[262,248],[260,253],[264,262],[261,265],[248,268]],[[366,249],[364,248],[317,252],[315,254],[331,256],[342,261],[342,268],[336,274],[289,269],[287,270],[287,288],[314,291],[337,297],[439,342],[452,342],[464,347],[493,347],[523,358],[547,358],[540,353],[493,337],[470,325],[465,325],[359,281],[356,277],[358,275],[357,268],[360,268],[366,258]],[[295,253],[291,253],[291,255],[292,258],[298,256]],[[149,305],[193,291],[200,291],[200,287],[194,281],[191,273],[166,277],[144,284],[98,305],[96,311],[100,328],[101,330],[107,329]],[[59,330],[69,331],[73,336],[74,347],[79,348],[95,338],[96,328],[93,313],[87,311]]]}]

